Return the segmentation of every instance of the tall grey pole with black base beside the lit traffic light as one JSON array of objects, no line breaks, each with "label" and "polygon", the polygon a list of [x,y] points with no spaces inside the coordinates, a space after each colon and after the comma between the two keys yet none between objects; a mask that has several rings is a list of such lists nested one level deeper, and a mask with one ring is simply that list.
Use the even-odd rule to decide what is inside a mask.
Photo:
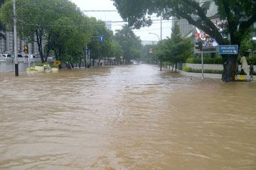
[{"label": "tall grey pole with black base beside the lit traffic light", "polygon": [[15,76],[18,77],[18,50],[17,50],[17,15],[16,6],[14,0],[14,65],[15,65]]}]

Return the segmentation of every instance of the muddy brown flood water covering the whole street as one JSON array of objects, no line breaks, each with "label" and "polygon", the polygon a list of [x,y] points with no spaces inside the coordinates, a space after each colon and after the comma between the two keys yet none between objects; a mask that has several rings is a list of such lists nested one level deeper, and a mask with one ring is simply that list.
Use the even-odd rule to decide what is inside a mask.
[{"label": "muddy brown flood water covering the whole street", "polygon": [[255,82],[140,64],[0,86],[0,169],[256,169]]}]

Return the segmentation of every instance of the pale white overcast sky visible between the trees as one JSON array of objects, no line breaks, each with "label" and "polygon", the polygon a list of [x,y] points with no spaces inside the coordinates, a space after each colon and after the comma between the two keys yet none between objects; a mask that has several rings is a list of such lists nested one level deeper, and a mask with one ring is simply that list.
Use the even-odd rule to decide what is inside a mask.
[{"label": "pale white overcast sky visible between the trees", "polygon": [[[117,9],[110,0],[70,0],[75,3],[85,15],[93,16],[102,21],[122,21],[122,18],[117,13]],[[94,11],[93,11],[94,10]],[[106,11],[108,10],[108,11]],[[109,11],[113,10],[113,11]],[[160,18],[154,18],[159,19]],[[120,30],[125,23],[112,23],[112,30]],[[159,40],[161,35],[160,21],[154,21],[151,27],[134,30],[134,33],[141,38],[141,40]],[[159,36],[159,38],[154,34]],[[171,21],[162,21],[162,39],[171,35]]]}]

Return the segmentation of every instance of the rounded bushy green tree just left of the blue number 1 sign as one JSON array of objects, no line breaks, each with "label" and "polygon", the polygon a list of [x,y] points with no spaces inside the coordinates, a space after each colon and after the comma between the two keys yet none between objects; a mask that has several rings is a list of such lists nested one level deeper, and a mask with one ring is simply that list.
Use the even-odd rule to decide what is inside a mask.
[{"label": "rounded bushy green tree just left of the blue number 1 sign", "polygon": [[92,26],[88,25],[89,18],[78,15],[60,17],[48,30],[48,43],[46,45],[46,54],[53,50],[57,60],[63,62],[82,63],[85,56],[85,46],[92,37]]}]

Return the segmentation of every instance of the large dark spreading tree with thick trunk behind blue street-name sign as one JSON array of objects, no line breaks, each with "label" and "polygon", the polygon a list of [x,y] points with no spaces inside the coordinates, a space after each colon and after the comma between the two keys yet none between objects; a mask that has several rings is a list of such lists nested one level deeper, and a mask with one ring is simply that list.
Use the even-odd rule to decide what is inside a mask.
[{"label": "large dark spreading tree with thick trunk behind blue street-name sign", "polygon": [[[203,30],[218,42],[219,45],[240,46],[243,36],[250,33],[250,26],[256,21],[255,0],[215,0],[218,6],[218,14],[221,19],[227,21],[227,29],[230,35],[230,42],[223,38],[217,26],[206,16],[201,3],[195,0],[183,1],[137,1],[137,0],[112,0],[117,7],[124,21],[129,22],[129,26],[140,28],[150,26],[151,14],[157,13],[163,18],[169,19],[171,16],[184,18],[193,26]],[[238,62],[238,55],[223,55],[223,81],[234,81],[235,67]]]}]

